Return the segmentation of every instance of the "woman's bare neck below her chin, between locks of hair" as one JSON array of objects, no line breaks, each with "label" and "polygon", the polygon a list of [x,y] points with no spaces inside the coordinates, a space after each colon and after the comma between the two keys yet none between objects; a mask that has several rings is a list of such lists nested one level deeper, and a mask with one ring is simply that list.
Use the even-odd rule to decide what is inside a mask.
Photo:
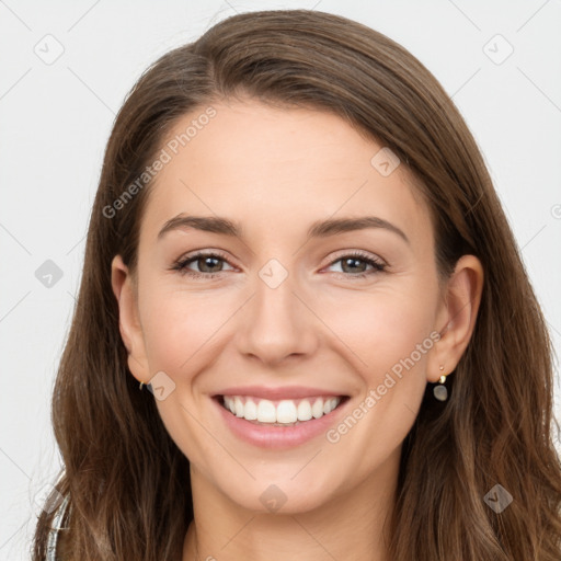
[{"label": "woman's bare neck below her chin, between locks of hair", "polygon": [[352,490],[307,512],[249,511],[192,469],[194,520],[183,561],[388,561],[399,454]]}]

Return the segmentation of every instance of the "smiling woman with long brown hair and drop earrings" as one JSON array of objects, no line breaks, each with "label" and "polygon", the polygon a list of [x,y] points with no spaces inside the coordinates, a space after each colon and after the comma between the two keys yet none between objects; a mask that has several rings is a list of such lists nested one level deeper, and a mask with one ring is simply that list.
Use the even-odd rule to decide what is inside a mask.
[{"label": "smiling woman with long brown hair and drop earrings", "polygon": [[239,14],[116,119],[34,559],[558,560],[553,421],[542,313],[436,79],[340,16]]}]

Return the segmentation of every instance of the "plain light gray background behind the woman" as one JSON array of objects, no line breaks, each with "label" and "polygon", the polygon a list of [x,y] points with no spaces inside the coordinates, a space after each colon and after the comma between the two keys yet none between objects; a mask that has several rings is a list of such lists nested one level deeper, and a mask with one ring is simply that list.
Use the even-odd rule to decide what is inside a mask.
[{"label": "plain light gray background behind the woman", "polygon": [[[337,13],[387,34],[453,95],[483,151],[559,353],[560,0],[0,0],[0,560],[28,559],[34,497],[58,470],[50,392],[115,113],[170,48],[236,12],[280,8]],[[46,260],[62,272],[51,287],[35,276]]]}]

